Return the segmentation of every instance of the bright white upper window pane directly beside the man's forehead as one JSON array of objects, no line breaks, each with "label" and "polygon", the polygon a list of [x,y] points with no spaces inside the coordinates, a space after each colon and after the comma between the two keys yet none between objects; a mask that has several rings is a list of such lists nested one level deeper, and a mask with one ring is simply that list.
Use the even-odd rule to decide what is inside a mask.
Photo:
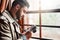
[{"label": "bright white upper window pane directly beside the man's forehead", "polygon": [[30,4],[29,10],[39,10],[39,0],[27,0]]}]

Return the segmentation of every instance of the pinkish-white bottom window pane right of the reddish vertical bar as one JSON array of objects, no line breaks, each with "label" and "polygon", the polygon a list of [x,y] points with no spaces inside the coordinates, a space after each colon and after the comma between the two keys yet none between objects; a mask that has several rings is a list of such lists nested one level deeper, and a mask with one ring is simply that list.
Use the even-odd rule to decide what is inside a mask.
[{"label": "pinkish-white bottom window pane right of the reddish vertical bar", "polygon": [[60,40],[60,28],[42,27],[42,38]]}]

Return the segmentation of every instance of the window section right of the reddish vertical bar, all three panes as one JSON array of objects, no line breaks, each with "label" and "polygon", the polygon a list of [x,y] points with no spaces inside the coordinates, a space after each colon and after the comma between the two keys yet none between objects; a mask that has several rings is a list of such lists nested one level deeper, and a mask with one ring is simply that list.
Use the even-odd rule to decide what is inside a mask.
[{"label": "window section right of the reddish vertical bar, all three panes", "polygon": [[42,38],[60,40],[60,0],[41,0]]}]

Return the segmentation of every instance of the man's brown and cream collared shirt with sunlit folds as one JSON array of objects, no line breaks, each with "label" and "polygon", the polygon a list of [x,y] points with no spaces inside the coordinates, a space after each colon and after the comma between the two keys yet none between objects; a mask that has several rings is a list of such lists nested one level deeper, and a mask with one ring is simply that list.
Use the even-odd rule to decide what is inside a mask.
[{"label": "man's brown and cream collared shirt with sunlit folds", "polygon": [[[0,16],[0,39],[1,40],[17,40],[17,36],[20,33],[20,26],[11,17],[8,11],[4,11],[3,15]],[[15,24],[15,26],[13,25]],[[17,33],[16,33],[17,32]]]}]

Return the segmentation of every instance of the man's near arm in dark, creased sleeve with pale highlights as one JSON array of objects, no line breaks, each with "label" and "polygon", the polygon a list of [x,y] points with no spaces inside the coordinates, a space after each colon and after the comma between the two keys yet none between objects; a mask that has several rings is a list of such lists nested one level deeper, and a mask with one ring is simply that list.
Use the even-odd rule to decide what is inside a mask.
[{"label": "man's near arm in dark, creased sleeve with pale highlights", "polygon": [[3,21],[0,22],[0,40],[12,40],[9,25]]}]

